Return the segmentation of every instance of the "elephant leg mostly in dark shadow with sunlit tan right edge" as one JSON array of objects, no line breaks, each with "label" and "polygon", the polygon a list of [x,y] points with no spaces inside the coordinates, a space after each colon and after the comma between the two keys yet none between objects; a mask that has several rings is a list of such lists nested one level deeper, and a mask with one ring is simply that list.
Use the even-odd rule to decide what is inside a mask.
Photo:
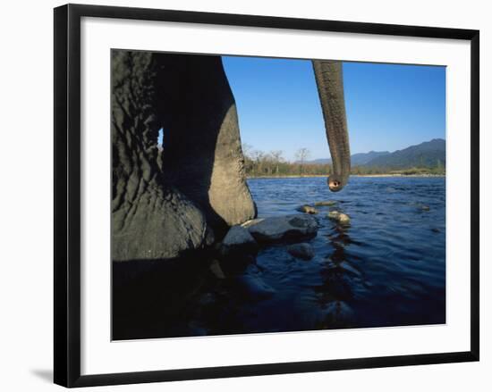
[{"label": "elephant leg mostly in dark shadow with sunlit tan right edge", "polygon": [[218,233],[256,216],[233,92],[219,56],[161,54],[163,172]]}]

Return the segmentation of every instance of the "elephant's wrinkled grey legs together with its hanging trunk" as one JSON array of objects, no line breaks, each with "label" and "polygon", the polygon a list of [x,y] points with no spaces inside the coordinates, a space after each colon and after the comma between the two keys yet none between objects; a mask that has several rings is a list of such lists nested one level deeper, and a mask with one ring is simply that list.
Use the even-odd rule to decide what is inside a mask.
[{"label": "elephant's wrinkled grey legs together with its hanging trunk", "polygon": [[[342,65],[312,64],[336,192],[350,173]],[[113,49],[111,140],[113,261],[175,259],[257,216],[220,56]]]}]

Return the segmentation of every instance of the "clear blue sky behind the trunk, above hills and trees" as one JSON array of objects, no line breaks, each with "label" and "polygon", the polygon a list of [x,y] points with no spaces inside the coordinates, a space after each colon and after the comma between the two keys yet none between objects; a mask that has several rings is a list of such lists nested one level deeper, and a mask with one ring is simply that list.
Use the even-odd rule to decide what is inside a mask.
[{"label": "clear blue sky behind the trunk, above hills and trees", "polygon": [[[294,159],[327,158],[323,115],[310,61],[223,57],[242,143]],[[351,152],[394,151],[445,138],[445,68],[344,63]]]}]

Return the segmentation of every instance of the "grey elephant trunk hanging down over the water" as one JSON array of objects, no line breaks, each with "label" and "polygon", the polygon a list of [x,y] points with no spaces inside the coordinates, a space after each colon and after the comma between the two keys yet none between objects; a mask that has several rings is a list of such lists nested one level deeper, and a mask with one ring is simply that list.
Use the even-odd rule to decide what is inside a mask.
[{"label": "grey elephant trunk hanging down over the water", "polygon": [[347,183],[351,170],[342,63],[326,60],[313,60],[312,63],[332,158],[328,187],[338,192]]}]

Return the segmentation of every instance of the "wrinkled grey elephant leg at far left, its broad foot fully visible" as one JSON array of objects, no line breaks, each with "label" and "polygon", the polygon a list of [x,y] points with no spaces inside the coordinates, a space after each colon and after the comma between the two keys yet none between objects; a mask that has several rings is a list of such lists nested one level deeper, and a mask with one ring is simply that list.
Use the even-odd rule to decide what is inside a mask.
[{"label": "wrinkled grey elephant leg at far left, its broad foot fully visible", "polygon": [[114,50],[111,65],[112,259],[171,259],[198,249],[208,240],[206,219],[157,166],[155,56]]}]

